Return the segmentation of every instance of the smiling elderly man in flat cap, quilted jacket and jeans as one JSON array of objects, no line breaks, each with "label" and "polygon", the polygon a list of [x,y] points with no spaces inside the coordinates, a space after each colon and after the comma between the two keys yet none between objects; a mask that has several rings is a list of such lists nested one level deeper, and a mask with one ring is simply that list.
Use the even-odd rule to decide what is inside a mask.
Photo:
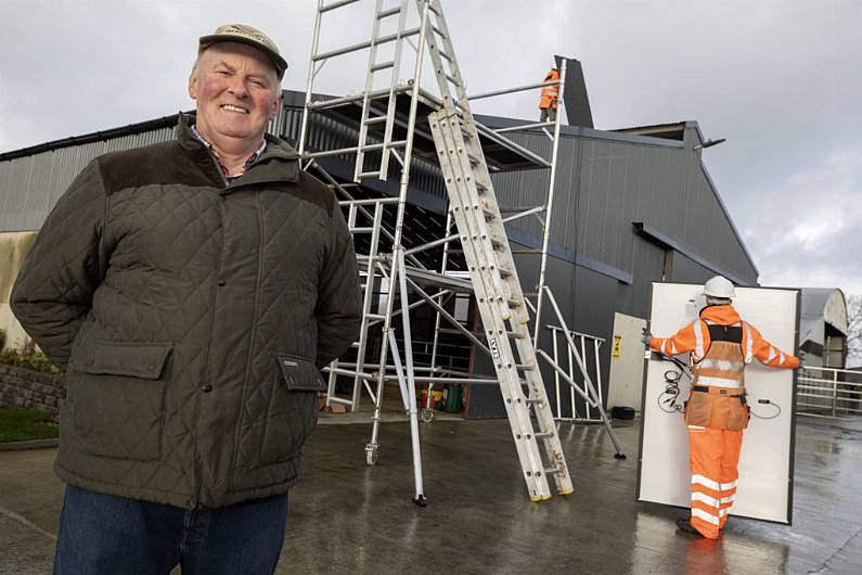
[{"label": "smiling elderly man in flat cap, quilted jacket and jeans", "polygon": [[65,370],[54,572],[272,573],[317,422],[358,334],[332,191],[266,135],[287,64],[245,25],[200,40],[177,138],[92,161],[12,306]]}]

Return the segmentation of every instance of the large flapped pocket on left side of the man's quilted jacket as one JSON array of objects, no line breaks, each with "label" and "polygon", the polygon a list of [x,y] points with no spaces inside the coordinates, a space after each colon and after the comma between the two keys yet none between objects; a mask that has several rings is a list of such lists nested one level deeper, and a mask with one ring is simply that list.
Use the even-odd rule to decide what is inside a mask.
[{"label": "large flapped pocket on left side of the man's quilted jacket", "polygon": [[134,461],[160,457],[163,372],[171,349],[170,344],[91,342],[73,355],[67,383],[81,451]]}]

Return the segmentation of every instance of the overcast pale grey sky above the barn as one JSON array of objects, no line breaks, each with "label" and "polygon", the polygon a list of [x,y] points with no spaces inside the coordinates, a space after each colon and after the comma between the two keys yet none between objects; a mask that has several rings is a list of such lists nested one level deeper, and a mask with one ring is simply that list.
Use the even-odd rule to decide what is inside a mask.
[{"label": "overcast pale grey sky above the barn", "polygon": [[[391,2],[393,0],[388,0]],[[366,39],[372,4],[324,21],[323,48]],[[411,2],[412,3],[412,2]],[[316,0],[0,0],[0,152],[193,107],[196,38],[263,29],[305,90]],[[862,1],[443,1],[472,93],[583,63],[600,129],[697,120],[704,161],[768,285],[862,294]],[[364,60],[318,91],[356,91]],[[474,112],[532,118],[536,95]]]}]

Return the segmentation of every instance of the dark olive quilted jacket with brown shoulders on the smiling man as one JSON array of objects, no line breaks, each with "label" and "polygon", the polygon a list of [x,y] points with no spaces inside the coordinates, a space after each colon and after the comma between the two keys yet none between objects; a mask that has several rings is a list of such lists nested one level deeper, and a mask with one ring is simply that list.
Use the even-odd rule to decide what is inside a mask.
[{"label": "dark olive quilted jacket with brown shoulders on the smiling man", "polygon": [[267,136],[227,184],[193,120],[81,171],[12,309],[66,372],[61,480],[215,508],[296,482],[318,369],[358,335],[360,293],[335,197],[296,153]]}]

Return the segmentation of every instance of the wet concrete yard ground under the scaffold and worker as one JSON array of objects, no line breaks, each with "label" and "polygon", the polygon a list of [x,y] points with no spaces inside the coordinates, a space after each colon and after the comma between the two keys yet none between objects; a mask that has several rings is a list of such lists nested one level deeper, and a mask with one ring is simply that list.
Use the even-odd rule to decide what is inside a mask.
[{"label": "wet concrete yard ground under the scaffold and worker", "polygon": [[[425,493],[411,502],[407,424],[325,424],[308,443],[291,495],[279,574],[314,573],[862,573],[862,421],[800,418],[792,527],[732,518],[718,541],[676,529],[683,511],[634,500],[638,423],[564,425],[576,491],[530,503],[507,423],[422,425]],[[54,449],[0,451],[0,573],[50,573],[62,485]]]}]

